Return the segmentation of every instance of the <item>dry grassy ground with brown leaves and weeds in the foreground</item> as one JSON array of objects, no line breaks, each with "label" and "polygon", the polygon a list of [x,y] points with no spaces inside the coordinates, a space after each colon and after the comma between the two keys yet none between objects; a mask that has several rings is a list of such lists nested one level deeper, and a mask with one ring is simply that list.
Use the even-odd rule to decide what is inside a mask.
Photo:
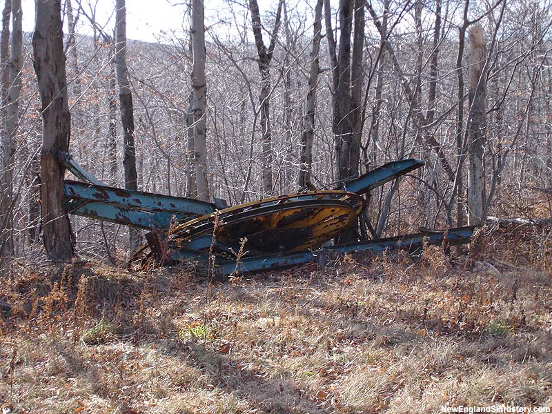
[{"label": "dry grassy ground with brown leaves and weeds in the foreground", "polygon": [[549,229],[531,232],[214,283],[20,266],[0,288],[2,413],[552,406]]}]

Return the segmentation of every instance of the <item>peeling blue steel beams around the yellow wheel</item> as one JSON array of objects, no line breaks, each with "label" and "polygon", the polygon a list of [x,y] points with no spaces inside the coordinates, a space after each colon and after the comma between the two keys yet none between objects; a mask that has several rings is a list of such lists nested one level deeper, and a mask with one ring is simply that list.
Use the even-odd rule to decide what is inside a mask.
[{"label": "peeling blue steel beams around the yellow wheel", "polygon": [[[79,166],[67,152],[61,153],[60,159],[61,164],[76,177],[82,181],[88,181],[87,183],[65,181],[65,206],[68,213],[150,230],[155,228],[168,230],[170,224],[175,221],[182,223],[195,217],[215,213],[217,209],[224,208],[224,204],[220,201],[217,204],[212,204],[184,197],[109,187]],[[423,165],[424,162],[419,159],[389,162],[360,177],[345,181],[337,189],[362,195]],[[308,193],[298,197],[308,198]],[[324,256],[331,252],[337,254],[358,251],[377,253],[397,248],[412,251],[419,250],[424,243],[442,244],[445,239],[451,245],[464,244],[469,242],[473,229],[473,227],[451,228],[442,232],[418,233],[389,239],[329,246],[315,251],[304,250],[282,255],[245,257],[239,260],[237,264],[234,260],[217,257],[215,263],[218,271],[223,275],[233,274],[235,270],[239,273],[255,272],[315,262],[320,255]],[[201,246],[209,244],[211,238],[210,235],[200,238],[196,241],[196,244]],[[193,247],[197,246],[194,245]],[[208,257],[201,255],[201,252],[195,250],[195,248],[181,248],[169,253],[169,262],[179,262],[184,259],[208,261]]]}]

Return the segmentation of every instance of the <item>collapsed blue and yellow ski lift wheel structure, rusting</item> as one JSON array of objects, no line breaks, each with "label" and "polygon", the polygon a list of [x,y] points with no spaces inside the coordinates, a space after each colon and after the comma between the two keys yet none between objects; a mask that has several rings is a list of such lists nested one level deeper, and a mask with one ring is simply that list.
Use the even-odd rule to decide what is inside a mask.
[{"label": "collapsed blue and yellow ski lift wheel structure, rusting", "polygon": [[418,159],[393,161],[335,190],[260,199],[238,206],[223,200],[208,203],[106,186],[83,170],[68,153],[63,165],[81,181],[65,181],[68,213],[150,230],[147,243],[130,259],[177,264],[190,259],[209,262],[215,257],[224,275],[313,262],[327,253],[417,250],[422,244],[469,242],[473,227],[451,228],[330,245],[331,240],[357,223],[366,208],[362,195],[420,168]]}]

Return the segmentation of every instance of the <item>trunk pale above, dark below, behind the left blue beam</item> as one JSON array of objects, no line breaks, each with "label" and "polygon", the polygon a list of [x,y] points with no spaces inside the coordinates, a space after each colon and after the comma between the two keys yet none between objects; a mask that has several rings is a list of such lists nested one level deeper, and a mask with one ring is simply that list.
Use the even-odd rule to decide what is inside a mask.
[{"label": "trunk pale above, dark below, behind the left blue beam", "polygon": [[[121,123],[123,124],[123,168],[125,175],[125,188],[138,189],[136,172],[136,148],[134,137],[134,112],[132,110],[132,92],[128,80],[128,68],[126,66],[126,4],[125,0],[117,0],[117,12],[115,13],[115,72],[119,83],[119,108],[121,110]],[[130,248],[133,250],[139,242],[137,230],[129,228]]]}]

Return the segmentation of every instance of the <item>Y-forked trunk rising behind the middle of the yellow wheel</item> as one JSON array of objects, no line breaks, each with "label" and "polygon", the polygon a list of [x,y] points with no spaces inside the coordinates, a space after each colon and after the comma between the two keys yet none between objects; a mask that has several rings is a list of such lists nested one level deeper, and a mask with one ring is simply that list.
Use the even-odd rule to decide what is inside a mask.
[{"label": "Y-forked trunk rising behind the middle of the yellow wheel", "polygon": [[270,61],[273,57],[274,48],[276,46],[276,38],[278,35],[278,29],[280,25],[280,16],[282,14],[282,4],[284,0],[280,0],[278,3],[278,10],[276,13],[276,20],[274,23],[274,30],[270,36],[270,45],[268,49],[264,45],[263,35],[261,32],[261,16],[259,14],[259,5],[257,0],[249,0],[249,10],[251,12],[251,25],[253,27],[253,35],[255,36],[255,46],[257,46],[257,53],[259,60],[259,73],[261,75],[261,93],[259,95],[260,108],[260,123],[261,123],[261,169],[262,169],[262,194],[263,196],[271,195],[273,188],[272,177],[272,143],[271,143],[271,131],[270,131]]}]

